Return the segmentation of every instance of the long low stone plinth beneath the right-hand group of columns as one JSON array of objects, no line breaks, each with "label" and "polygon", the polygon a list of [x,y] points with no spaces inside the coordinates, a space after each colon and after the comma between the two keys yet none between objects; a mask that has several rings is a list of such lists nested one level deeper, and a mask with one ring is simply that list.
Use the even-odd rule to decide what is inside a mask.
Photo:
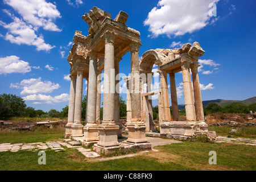
[{"label": "long low stone plinth beneath the right-hand group of columns", "polygon": [[205,122],[197,121],[172,121],[160,124],[161,135],[180,135],[192,137],[195,133],[205,133],[208,131],[208,125]]}]

